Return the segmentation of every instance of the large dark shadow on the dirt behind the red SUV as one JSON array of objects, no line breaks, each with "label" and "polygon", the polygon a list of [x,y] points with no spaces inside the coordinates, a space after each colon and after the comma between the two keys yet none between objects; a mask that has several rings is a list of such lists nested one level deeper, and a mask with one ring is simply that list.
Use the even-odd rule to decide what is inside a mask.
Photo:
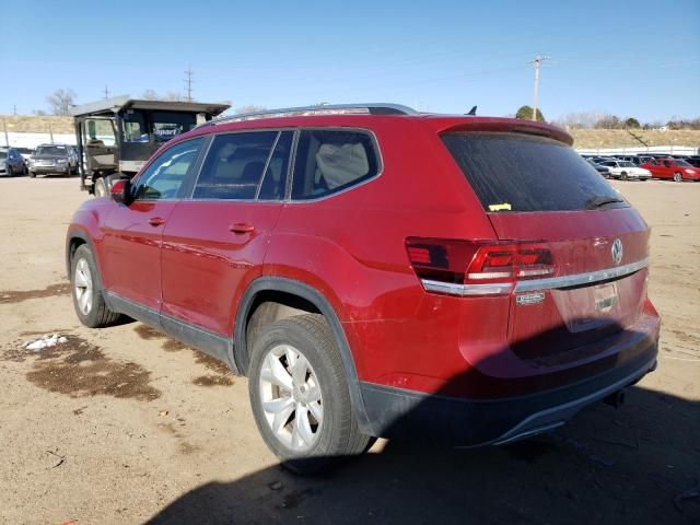
[{"label": "large dark shadow on the dirt behind the red SUV", "polygon": [[147,523],[697,524],[698,409],[633,386],[619,409],[593,405],[511,445],[381,440],[329,475],[275,466],[202,485]]}]

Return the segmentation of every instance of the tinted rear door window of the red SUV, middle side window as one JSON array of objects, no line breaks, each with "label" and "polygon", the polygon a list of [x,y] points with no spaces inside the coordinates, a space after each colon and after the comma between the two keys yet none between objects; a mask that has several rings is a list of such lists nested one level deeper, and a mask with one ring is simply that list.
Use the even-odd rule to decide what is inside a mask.
[{"label": "tinted rear door window of the red SUV, middle side window", "polygon": [[195,185],[195,199],[255,199],[278,131],[214,138]]}]

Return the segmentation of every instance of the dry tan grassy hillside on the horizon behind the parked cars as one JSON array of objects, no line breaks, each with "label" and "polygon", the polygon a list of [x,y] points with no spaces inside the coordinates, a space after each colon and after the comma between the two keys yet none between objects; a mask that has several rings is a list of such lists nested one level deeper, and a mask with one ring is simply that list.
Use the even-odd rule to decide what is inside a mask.
[{"label": "dry tan grassy hillside on the horizon behind the parked cars", "polygon": [[[74,132],[71,117],[0,115],[0,133],[3,121],[10,132],[48,133],[49,125],[54,133]],[[574,147],[581,149],[642,147],[641,142],[623,129],[572,129],[570,133],[575,140]],[[700,130],[651,131],[635,129],[633,133],[649,145],[673,144],[674,147],[700,148]]]}]

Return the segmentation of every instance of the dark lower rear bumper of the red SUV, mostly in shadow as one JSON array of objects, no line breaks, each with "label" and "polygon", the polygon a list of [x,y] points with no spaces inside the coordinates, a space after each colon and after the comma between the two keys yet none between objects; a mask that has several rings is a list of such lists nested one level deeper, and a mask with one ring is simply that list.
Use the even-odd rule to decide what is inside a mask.
[{"label": "dark lower rear bumper of the red SUV, mostly in shadow", "polygon": [[505,399],[463,399],[361,383],[373,434],[455,446],[504,444],[560,427],[583,407],[637,383],[656,366],[657,340],[634,359],[574,384]]}]

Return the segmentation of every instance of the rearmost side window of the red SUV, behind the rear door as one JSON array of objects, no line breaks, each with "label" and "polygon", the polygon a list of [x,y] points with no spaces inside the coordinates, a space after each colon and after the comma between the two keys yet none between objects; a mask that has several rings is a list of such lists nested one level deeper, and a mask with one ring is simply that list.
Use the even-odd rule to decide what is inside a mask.
[{"label": "rearmost side window of the red SUV, behind the rear door", "polygon": [[292,199],[335,194],[377,173],[377,155],[369,133],[304,130],[296,148]]}]

